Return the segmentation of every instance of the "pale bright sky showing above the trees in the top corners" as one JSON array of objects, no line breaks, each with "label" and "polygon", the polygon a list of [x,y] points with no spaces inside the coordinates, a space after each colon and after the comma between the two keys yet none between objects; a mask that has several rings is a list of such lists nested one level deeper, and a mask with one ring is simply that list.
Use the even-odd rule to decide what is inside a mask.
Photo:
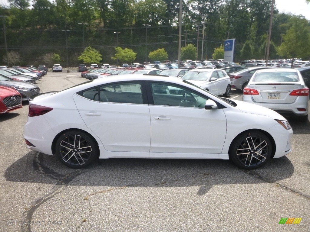
[{"label": "pale bright sky showing above the trees in the top corners", "polygon": [[[0,5],[8,6],[9,4],[7,0],[0,0]],[[275,0],[275,5],[279,13],[303,15],[310,20],[310,3],[307,4],[305,0]]]}]

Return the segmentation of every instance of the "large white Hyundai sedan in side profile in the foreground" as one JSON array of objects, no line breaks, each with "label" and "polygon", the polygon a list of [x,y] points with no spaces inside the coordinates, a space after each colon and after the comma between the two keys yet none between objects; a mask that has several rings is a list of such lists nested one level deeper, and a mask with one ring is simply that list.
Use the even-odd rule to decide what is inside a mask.
[{"label": "large white Hyundai sedan in side profile in the foreground", "polygon": [[183,79],[141,74],[35,97],[24,126],[28,148],[71,168],[97,158],[182,158],[231,159],[254,169],[290,153],[292,134],[273,110],[216,97]]}]

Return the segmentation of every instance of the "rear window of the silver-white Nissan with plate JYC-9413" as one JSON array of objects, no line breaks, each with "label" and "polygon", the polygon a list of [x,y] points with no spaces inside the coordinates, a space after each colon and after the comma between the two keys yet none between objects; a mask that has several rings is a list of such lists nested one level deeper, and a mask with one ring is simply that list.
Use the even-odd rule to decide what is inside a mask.
[{"label": "rear window of the silver-white Nissan with plate JYC-9413", "polygon": [[299,76],[296,72],[261,72],[256,73],[253,82],[299,82]]}]

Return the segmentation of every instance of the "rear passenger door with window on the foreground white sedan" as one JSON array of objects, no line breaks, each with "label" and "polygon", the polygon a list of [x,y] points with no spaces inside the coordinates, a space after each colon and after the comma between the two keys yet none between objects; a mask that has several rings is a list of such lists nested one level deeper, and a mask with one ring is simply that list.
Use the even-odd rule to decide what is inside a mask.
[{"label": "rear passenger door with window on the foreground white sedan", "polygon": [[139,152],[141,157],[149,152],[150,115],[141,87],[142,82],[112,83],[73,96],[86,126],[107,151]]}]

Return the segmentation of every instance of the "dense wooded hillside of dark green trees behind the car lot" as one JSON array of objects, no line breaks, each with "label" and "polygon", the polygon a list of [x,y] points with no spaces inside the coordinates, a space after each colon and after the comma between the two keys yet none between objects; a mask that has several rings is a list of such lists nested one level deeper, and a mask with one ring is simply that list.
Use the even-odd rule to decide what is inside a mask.
[{"label": "dense wooded hillside of dark green trees behind the car lot", "polygon": [[[88,46],[102,55],[102,63],[116,63],[111,57],[115,57],[117,46],[131,49],[136,53],[135,61],[138,62],[145,60],[146,49],[148,53],[164,49],[170,60],[178,57],[179,0],[9,2],[10,6],[0,7],[0,15],[5,16],[2,19],[7,49],[20,54],[21,65],[42,64],[44,55],[53,53],[60,55],[60,61],[65,66],[65,33],[71,66],[78,65],[79,55]],[[236,39],[234,61],[244,57],[264,58],[271,14],[270,0],[184,0],[182,8],[182,47],[198,42],[199,58],[202,28],[204,59],[212,58],[215,48],[223,45],[227,38]],[[3,32],[0,33],[0,60],[3,62],[6,51]],[[309,59],[310,49],[304,47],[310,44],[309,40],[309,21],[302,15],[279,14],[275,6],[271,33],[274,47],[269,58]],[[300,41],[304,42],[300,44]],[[196,59],[196,55],[186,59]]]}]

